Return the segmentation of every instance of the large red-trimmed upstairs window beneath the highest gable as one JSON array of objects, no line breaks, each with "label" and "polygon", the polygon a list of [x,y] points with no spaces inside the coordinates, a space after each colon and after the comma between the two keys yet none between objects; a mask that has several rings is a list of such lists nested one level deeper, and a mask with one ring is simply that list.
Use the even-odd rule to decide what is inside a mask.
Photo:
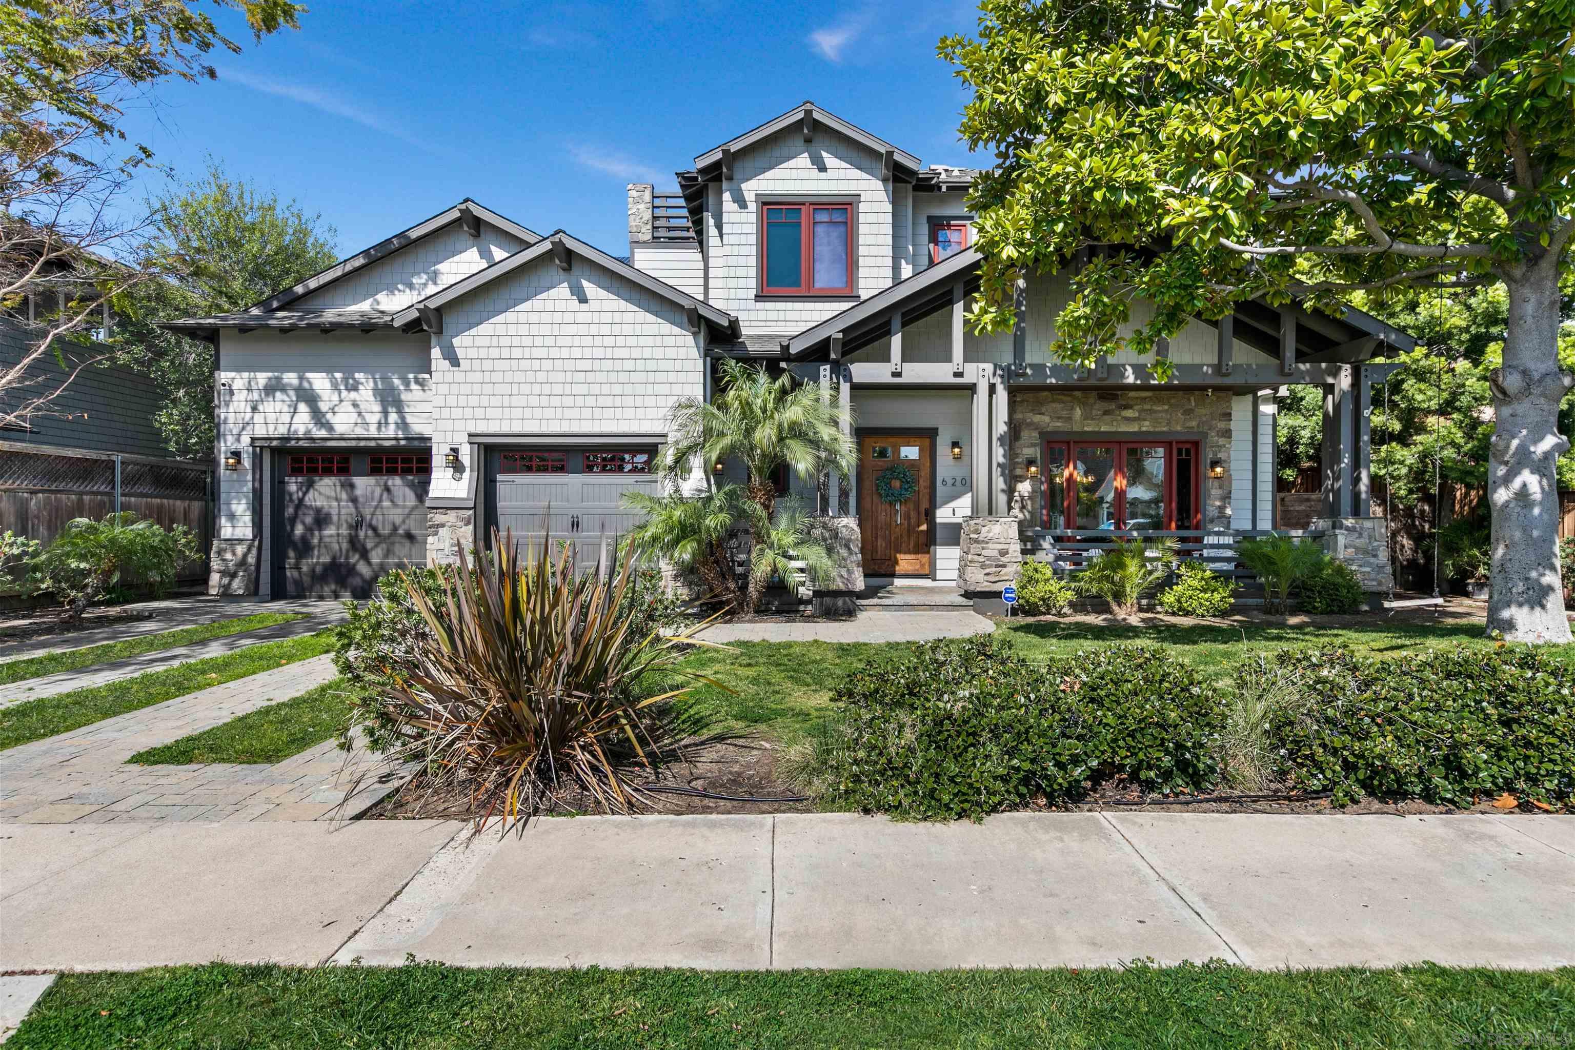
[{"label": "large red-trimmed upstairs window beneath the highest gable", "polygon": [[773,296],[852,294],[852,203],[761,205],[761,291]]}]

